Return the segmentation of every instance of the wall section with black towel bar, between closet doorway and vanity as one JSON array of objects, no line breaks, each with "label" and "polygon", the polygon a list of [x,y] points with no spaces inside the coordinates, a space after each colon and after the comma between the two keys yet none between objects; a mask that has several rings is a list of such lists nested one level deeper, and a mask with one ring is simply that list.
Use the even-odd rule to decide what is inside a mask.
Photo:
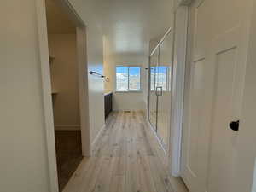
[{"label": "wall section with black towel bar, between closet doorway and vanity", "polygon": [[[73,9],[79,14],[86,25],[88,71],[103,73],[103,37],[102,29],[97,24],[94,12],[95,4],[91,0],[70,0]],[[104,80],[89,75],[89,111],[90,111],[90,143],[105,125],[104,118]]]}]

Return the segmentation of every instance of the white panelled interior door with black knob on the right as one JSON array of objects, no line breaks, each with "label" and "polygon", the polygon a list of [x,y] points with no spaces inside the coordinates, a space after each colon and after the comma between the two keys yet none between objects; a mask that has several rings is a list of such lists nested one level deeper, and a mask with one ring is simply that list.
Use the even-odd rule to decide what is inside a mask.
[{"label": "white panelled interior door with black knob on the right", "polygon": [[[239,179],[239,131],[245,52],[241,27],[209,38],[205,9],[194,3],[189,20],[188,101],[185,102],[182,177],[190,192],[231,192]],[[192,50],[192,51],[191,51]]]}]

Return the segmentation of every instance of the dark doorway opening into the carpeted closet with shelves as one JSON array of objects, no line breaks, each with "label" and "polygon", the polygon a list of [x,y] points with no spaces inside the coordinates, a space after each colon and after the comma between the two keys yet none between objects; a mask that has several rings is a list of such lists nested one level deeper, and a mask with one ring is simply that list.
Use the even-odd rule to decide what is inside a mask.
[{"label": "dark doorway opening into the carpeted closet with shelves", "polygon": [[59,190],[83,159],[76,26],[54,0],[45,0],[49,72]]}]

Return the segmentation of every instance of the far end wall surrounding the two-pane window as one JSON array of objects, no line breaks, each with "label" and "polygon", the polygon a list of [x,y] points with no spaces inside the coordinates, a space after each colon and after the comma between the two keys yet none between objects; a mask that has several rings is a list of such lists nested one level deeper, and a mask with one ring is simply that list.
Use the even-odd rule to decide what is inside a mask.
[{"label": "far end wall surrounding the two-pane window", "polygon": [[[104,58],[104,74],[109,77],[105,82],[105,91],[113,91],[113,110],[143,110],[146,111],[148,81],[145,69],[148,67],[147,55],[108,55]],[[141,67],[141,91],[139,92],[115,92],[115,67],[140,66]]]}]

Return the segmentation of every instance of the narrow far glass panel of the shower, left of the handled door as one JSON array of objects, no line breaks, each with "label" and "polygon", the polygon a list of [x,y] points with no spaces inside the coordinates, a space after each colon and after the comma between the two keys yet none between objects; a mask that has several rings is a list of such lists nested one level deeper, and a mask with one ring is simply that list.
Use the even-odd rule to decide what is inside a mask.
[{"label": "narrow far glass panel of the shower, left of the handled door", "polygon": [[158,64],[158,55],[159,50],[157,49],[154,52],[154,55],[150,57],[150,89],[149,89],[149,121],[153,125],[156,131],[157,124],[157,96],[155,95],[155,87],[156,87],[156,69]]}]

